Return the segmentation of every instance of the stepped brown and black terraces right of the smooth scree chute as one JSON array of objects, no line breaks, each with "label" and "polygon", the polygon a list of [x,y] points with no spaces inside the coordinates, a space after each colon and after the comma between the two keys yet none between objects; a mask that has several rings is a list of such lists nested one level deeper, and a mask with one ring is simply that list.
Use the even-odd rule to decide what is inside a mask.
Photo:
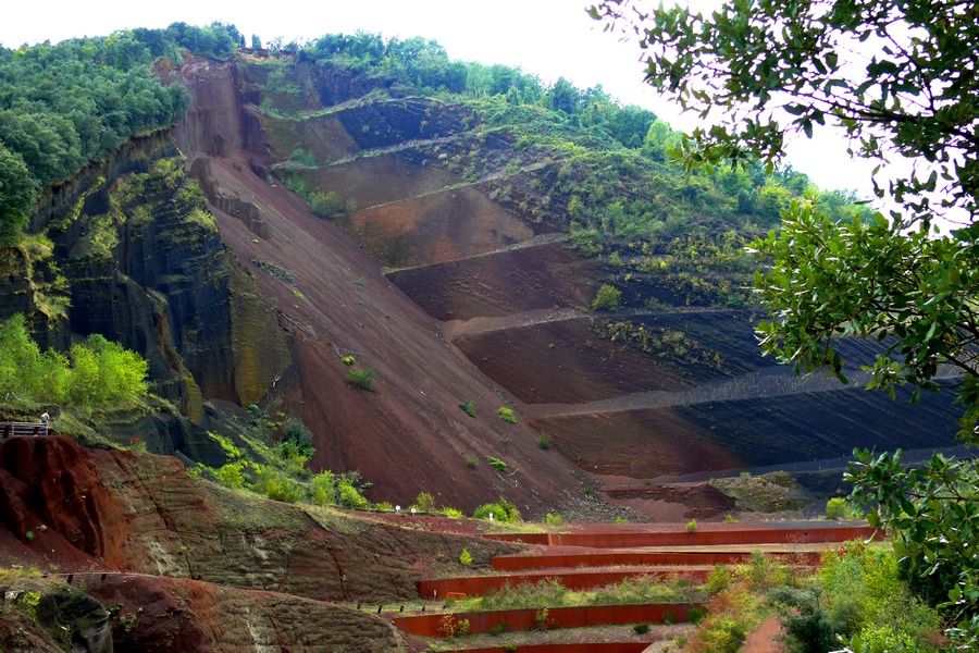
[{"label": "stepped brown and black terraces right of the smooth scree chute", "polygon": [[[558,164],[516,165],[506,133],[481,140],[461,126],[463,113],[434,100],[379,100],[263,124],[274,125],[276,143],[301,139],[313,152],[336,156],[331,144],[344,144],[344,156],[294,174],[355,201],[357,210],[335,224],[441,322],[457,355],[510,393],[521,418],[581,469],[628,486],[818,463],[856,446],[952,444],[949,396],[927,396],[908,410],[906,395],[893,402],[865,393],[858,375],[848,386],[796,380],[760,356],[753,335],[759,316],[749,310],[686,306],[673,286],[650,278],[635,283],[659,298],[656,308],[593,311],[597,288],[614,280],[623,285],[622,276],[577,249],[559,209],[541,210],[545,200],[530,189],[546,193]],[[318,140],[312,125],[327,122],[329,137]],[[274,155],[285,158],[287,147],[276,147]],[[462,176],[460,157],[479,161],[482,172]],[[627,301],[640,293],[639,285],[624,287],[634,288]],[[644,350],[612,338],[615,329],[676,337],[679,346]],[[859,360],[870,356],[868,347],[844,349]],[[630,505],[642,509],[642,502]]]}]

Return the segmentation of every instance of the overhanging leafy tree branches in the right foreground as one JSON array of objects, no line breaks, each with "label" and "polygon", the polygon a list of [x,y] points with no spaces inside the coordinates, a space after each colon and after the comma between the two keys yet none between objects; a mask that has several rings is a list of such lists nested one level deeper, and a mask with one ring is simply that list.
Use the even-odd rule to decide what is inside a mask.
[{"label": "overhanging leafy tree branches in the right foreground", "polygon": [[[590,10],[639,37],[646,79],[715,120],[674,150],[689,170],[784,155],[786,136],[838,128],[852,153],[885,164],[889,215],[838,222],[793,201],[779,232],[752,248],[770,263],[756,280],[772,320],[763,346],[796,372],[828,369],[846,381],[837,338],[884,343],[864,366],[868,387],[951,386],[977,440],[979,379],[975,271],[979,254],[979,7],[912,0],[729,0],[708,16],[606,0]],[[718,113],[721,116],[718,119]],[[780,123],[786,121],[786,124]],[[961,229],[939,236],[939,219]],[[950,378],[951,377],[951,378]],[[858,452],[850,480],[873,523],[896,533],[910,587],[944,603],[963,649],[979,645],[979,575],[972,552],[977,502],[971,466],[935,458],[907,471],[899,456]],[[860,642],[851,646],[864,650]]]}]

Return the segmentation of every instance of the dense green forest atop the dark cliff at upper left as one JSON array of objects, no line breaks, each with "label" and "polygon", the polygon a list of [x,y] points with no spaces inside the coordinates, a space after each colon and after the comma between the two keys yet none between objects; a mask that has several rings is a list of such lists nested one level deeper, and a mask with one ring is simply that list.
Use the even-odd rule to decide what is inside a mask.
[{"label": "dense green forest atop the dark cliff at upper left", "polygon": [[175,23],[0,49],[0,239],[26,224],[44,188],[183,118],[188,95],[153,75],[158,58],[179,62],[181,48],[228,57],[241,45],[233,26]]}]

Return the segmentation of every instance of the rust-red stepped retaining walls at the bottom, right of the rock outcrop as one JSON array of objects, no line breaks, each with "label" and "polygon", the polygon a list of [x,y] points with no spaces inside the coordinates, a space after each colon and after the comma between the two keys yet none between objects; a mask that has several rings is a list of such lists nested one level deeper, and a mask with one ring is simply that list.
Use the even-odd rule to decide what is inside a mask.
[{"label": "rust-red stepped retaining walls at the bottom, right of the rock outcrop", "polygon": [[[826,551],[856,538],[870,539],[880,533],[862,525],[833,522],[780,522],[747,525],[706,525],[690,532],[682,525],[657,526],[572,526],[562,533],[512,533],[485,535],[506,542],[531,543],[520,554],[493,558],[491,575],[423,580],[419,595],[429,599],[429,609],[398,613],[395,625],[406,633],[438,641],[450,637],[459,624],[466,624],[472,638],[455,638],[457,651],[520,650],[575,651],[595,653],[642,651],[654,642],[671,639],[678,628],[671,624],[689,620],[696,604],[611,604],[567,607],[560,604],[530,609],[472,612],[453,609],[446,597],[484,596],[504,588],[535,584],[548,579],[569,590],[593,590],[625,579],[684,579],[702,583],[716,564],[735,564],[764,551],[793,565],[814,566]],[[533,572],[528,572],[533,569]],[[546,609],[545,609],[546,608]],[[542,616],[543,615],[543,616]],[[654,625],[647,633],[630,633],[631,641],[609,636],[618,626],[645,621]],[[605,629],[595,627],[605,627]],[[573,630],[585,628],[586,630]],[[571,629],[566,631],[566,629]],[[591,629],[591,630],[588,630]],[[524,631],[532,631],[525,633]],[[485,633],[493,633],[488,641]],[[500,633],[503,637],[500,637]],[[503,640],[503,641],[500,641]],[[494,648],[487,648],[493,642]],[[642,643],[642,646],[639,646]],[[546,648],[553,646],[553,648]],[[571,646],[588,646],[573,649]],[[635,646],[635,648],[630,648]]]}]

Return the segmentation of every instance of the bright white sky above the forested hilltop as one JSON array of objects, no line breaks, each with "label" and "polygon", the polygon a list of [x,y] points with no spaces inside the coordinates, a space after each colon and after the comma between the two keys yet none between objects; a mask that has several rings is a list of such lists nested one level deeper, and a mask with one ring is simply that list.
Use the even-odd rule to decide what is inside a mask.
[{"label": "bright white sky above the forested hilltop", "polygon": [[[659,0],[650,0],[658,4]],[[233,23],[250,41],[282,36],[285,42],[357,29],[385,37],[421,36],[442,44],[449,58],[520,66],[545,83],[565,76],[579,88],[600,84],[627,104],[654,111],[674,128],[692,130],[693,115],[642,83],[640,50],[621,42],[585,14],[591,0],[320,0],[278,4],[248,0],[165,0],[106,2],[49,0],[21,2],[4,11],[0,44],[15,48],[44,40],[106,36],[116,29],[165,27],[174,22]],[[854,162],[831,131],[790,150],[790,163],[822,188],[870,193],[870,169]]]}]

